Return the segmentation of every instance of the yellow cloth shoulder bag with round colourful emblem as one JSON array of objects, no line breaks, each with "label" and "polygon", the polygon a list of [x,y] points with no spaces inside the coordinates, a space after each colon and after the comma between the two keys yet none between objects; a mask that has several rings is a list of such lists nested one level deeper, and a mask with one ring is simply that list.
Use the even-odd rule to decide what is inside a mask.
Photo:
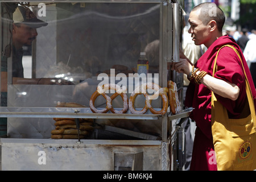
[{"label": "yellow cloth shoulder bag with round colourful emblem", "polygon": [[[237,49],[230,45],[225,46],[234,49],[240,57]],[[214,60],[213,76],[216,72],[218,52]],[[243,72],[245,73],[244,67]],[[247,111],[250,110],[250,115],[245,118],[230,119],[228,111],[217,101],[212,92],[212,135],[218,170],[249,171],[256,169],[256,116],[253,95],[251,94],[246,73],[245,79],[246,95],[250,107],[250,109],[247,107]],[[246,109],[243,111],[246,112]]]}]

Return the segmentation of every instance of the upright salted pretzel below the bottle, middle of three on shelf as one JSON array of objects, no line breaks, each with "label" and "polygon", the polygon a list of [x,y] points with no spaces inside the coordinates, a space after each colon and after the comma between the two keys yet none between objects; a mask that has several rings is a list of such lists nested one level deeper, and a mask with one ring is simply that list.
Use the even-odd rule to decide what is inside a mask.
[{"label": "upright salted pretzel below the bottle, middle of three on shelf", "polygon": [[[156,92],[154,95],[149,96],[146,92],[147,89],[154,89]],[[167,93],[168,93],[168,88],[166,88],[166,87],[161,88],[158,84],[151,83],[151,82],[142,84],[142,86],[138,86],[137,88],[135,88],[133,93],[131,93],[131,96],[129,99],[129,109],[130,109],[131,113],[133,113],[133,114],[144,114],[149,109],[152,114],[162,114],[163,115],[166,113],[166,111],[168,109]],[[134,108],[135,99],[139,94],[143,94],[146,98],[145,106],[143,107],[142,110],[136,110]],[[161,96],[162,101],[163,101],[163,107],[162,107],[162,110],[160,110],[160,111],[156,111],[151,106],[151,101],[156,99],[156,97],[158,97],[158,96]]]}]

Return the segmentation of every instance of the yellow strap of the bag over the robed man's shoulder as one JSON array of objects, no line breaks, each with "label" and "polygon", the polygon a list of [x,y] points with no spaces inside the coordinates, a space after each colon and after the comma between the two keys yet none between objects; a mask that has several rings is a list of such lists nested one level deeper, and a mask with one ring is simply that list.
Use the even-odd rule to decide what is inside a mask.
[{"label": "yellow strap of the bag over the robed man's shoulder", "polygon": [[[243,67],[243,62],[242,62],[241,56],[238,53],[237,49],[234,48],[233,46],[230,46],[229,44],[227,44],[225,46],[222,46],[221,48],[223,48],[223,47],[230,47],[230,48],[232,48],[237,53],[237,55],[238,55],[238,57],[239,57],[239,59],[241,61],[242,67]],[[216,55],[215,60],[214,60],[213,73],[212,73],[213,77],[214,77],[214,73],[216,73],[216,70],[217,70],[217,57],[218,57],[218,53],[220,52],[220,49],[218,49],[217,55]],[[247,100],[249,102],[251,115],[254,117],[255,116],[255,106],[254,106],[254,101],[253,101],[253,94],[251,92],[250,84],[249,84],[249,81],[248,81],[248,78],[247,78],[247,75],[246,75],[246,72],[245,72],[245,67],[243,67],[243,73],[245,74]],[[214,94],[214,93],[212,92],[212,94]],[[254,117],[254,118],[256,118],[256,117]],[[256,123],[255,123],[255,125],[256,125]]]}]

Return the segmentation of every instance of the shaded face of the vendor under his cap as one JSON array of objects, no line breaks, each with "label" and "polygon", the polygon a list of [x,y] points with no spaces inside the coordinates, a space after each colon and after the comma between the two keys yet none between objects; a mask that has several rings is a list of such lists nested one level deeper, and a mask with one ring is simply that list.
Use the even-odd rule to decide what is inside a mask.
[{"label": "shaded face of the vendor under his cap", "polygon": [[32,41],[36,38],[37,35],[38,32],[36,31],[36,28],[32,28],[23,23],[20,23],[19,27],[14,25],[13,40],[15,44],[31,46]]}]

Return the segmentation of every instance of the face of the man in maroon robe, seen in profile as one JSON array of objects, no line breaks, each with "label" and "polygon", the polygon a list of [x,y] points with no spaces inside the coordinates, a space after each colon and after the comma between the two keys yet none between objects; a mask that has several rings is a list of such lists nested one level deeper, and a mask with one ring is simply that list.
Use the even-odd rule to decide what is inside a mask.
[{"label": "face of the man in maroon robe, seen in profile", "polygon": [[188,19],[190,24],[188,32],[196,45],[205,44],[210,40],[210,26],[199,19],[199,14],[200,10],[191,11]]}]

